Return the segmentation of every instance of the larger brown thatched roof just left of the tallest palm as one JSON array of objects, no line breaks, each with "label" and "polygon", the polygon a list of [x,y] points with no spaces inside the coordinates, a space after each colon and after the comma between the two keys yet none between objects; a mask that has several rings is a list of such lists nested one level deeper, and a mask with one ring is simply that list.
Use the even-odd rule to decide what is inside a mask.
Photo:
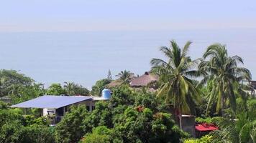
[{"label": "larger brown thatched roof just left of the tallest palm", "polygon": [[148,84],[156,82],[157,80],[158,77],[155,74],[145,72],[142,76],[132,79],[130,85],[131,87],[146,87]]}]

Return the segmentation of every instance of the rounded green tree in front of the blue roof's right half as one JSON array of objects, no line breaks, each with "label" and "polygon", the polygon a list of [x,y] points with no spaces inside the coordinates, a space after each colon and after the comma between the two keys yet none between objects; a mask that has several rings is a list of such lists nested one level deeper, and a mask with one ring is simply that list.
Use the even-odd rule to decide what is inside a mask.
[{"label": "rounded green tree in front of the blue roof's right half", "polygon": [[73,106],[70,112],[56,126],[57,142],[78,142],[86,133],[83,129],[83,119],[86,119],[88,112],[86,106]]}]

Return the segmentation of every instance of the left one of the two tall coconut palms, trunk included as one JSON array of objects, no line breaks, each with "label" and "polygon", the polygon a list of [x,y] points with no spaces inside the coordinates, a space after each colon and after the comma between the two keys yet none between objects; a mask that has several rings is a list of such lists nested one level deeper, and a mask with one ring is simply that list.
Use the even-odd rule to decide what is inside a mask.
[{"label": "left one of the two tall coconut palms, trunk included", "polygon": [[197,64],[197,60],[191,60],[187,56],[191,41],[188,41],[181,50],[175,41],[170,41],[170,48],[162,46],[160,51],[168,59],[152,59],[152,72],[160,77],[160,89],[157,97],[165,97],[165,102],[173,103],[179,112],[180,129],[182,129],[182,113],[189,113],[193,109],[194,103],[200,102],[198,90],[194,86],[190,77],[197,76],[197,72],[192,70]]}]

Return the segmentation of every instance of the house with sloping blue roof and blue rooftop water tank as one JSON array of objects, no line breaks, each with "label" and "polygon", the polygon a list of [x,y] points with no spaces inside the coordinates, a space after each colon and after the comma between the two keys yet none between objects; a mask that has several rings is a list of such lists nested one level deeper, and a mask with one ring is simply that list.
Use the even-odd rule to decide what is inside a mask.
[{"label": "house with sloping blue roof and blue rooftop water tank", "polygon": [[109,89],[104,89],[102,91],[102,97],[44,95],[26,102],[14,104],[11,107],[42,109],[42,116],[53,116],[55,117],[55,123],[58,123],[65,116],[65,113],[68,112],[72,105],[84,104],[86,105],[87,110],[91,112],[93,109],[95,109],[96,102],[109,99],[110,91]]}]

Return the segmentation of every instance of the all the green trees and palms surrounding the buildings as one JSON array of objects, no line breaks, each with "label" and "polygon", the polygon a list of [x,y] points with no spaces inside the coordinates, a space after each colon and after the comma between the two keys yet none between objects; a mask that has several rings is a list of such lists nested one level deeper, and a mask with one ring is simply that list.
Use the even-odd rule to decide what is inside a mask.
[{"label": "all the green trees and palms surrounding the buildings", "polygon": [[[45,88],[24,74],[1,69],[0,97],[10,100],[0,102],[0,143],[256,142],[256,99],[252,87],[242,84],[251,80],[242,58],[212,44],[193,60],[190,45],[188,41],[180,49],[171,41],[170,47],[160,48],[165,60],[151,61],[151,72],[159,77],[155,92],[129,87],[133,74],[121,71],[116,77],[122,84],[111,87],[109,101],[98,102],[92,112],[84,105],[71,107],[56,127],[50,127],[50,117],[40,117],[39,109],[9,106],[44,94],[101,96],[113,82],[111,72],[89,91],[73,82]],[[182,131],[181,114],[194,114],[197,123],[216,124],[219,130],[193,139]]]}]

